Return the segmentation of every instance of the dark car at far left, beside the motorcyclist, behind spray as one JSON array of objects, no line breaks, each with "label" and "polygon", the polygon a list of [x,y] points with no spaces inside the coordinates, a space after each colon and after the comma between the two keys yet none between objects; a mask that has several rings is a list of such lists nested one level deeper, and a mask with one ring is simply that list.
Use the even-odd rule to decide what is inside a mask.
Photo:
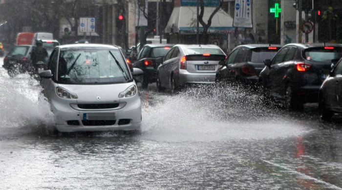
[{"label": "dark car at far left, beside the motorcyclist, behind spray", "polygon": [[32,45],[17,45],[3,58],[2,67],[5,68],[9,76],[16,76],[20,73],[33,72],[31,61]]}]

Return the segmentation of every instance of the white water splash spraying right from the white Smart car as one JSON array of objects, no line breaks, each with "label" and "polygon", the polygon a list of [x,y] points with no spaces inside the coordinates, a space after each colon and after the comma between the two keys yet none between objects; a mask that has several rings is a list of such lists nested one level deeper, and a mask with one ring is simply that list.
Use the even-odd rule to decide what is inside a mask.
[{"label": "white water splash spraying right from the white Smart car", "polygon": [[234,86],[200,86],[143,106],[142,138],[227,141],[286,138],[305,133],[262,97]]}]

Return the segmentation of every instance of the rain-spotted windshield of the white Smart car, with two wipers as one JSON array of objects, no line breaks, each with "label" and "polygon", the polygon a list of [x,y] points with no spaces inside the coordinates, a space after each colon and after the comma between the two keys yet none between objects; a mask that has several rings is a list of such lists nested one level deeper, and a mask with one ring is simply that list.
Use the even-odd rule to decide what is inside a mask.
[{"label": "rain-spotted windshield of the white Smart car, with two wipers", "polygon": [[130,75],[119,50],[65,50],[59,57],[58,80],[66,84],[124,83]]}]

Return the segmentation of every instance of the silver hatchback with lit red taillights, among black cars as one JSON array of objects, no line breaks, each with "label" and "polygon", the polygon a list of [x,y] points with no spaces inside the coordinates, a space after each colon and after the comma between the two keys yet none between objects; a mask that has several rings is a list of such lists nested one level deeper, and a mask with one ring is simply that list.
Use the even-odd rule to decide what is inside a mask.
[{"label": "silver hatchback with lit red taillights, among black cars", "polygon": [[216,45],[175,45],[158,67],[157,89],[175,91],[187,83],[215,83],[218,62],[225,57]]}]

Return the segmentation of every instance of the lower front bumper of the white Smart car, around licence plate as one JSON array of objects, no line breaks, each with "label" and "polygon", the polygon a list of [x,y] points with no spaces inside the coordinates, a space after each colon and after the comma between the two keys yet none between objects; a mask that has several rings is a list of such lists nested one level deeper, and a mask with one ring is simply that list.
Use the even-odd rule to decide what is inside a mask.
[{"label": "lower front bumper of the white Smart car, around licence plate", "polygon": [[[56,128],[59,132],[140,130],[141,101],[138,95],[127,99],[126,104],[120,109],[76,110],[71,107],[69,101],[58,100],[51,101],[51,109],[55,115]],[[89,114],[115,114],[115,117],[106,118],[106,120],[103,118],[88,120],[85,115]],[[129,120],[129,122],[119,125],[122,120]]]}]

